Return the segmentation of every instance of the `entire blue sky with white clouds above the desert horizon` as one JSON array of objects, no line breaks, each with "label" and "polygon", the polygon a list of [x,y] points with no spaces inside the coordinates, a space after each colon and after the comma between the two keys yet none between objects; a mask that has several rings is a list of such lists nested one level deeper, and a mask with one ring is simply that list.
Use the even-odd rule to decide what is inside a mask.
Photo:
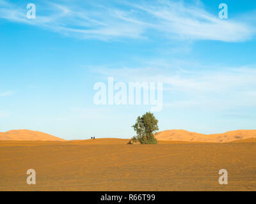
[{"label": "entire blue sky with white clouds above the desert horizon", "polygon": [[108,77],[163,82],[160,130],[256,129],[255,25],[248,0],[0,0],[0,131],[131,138],[150,106],[95,105]]}]

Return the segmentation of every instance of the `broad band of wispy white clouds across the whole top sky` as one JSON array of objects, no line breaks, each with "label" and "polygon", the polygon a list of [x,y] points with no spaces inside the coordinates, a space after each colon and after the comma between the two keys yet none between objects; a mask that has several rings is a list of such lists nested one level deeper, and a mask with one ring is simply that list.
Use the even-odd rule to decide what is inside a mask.
[{"label": "broad band of wispy white clouds across the whole top sky", "polygon": [[45,1],[36,8],[36,19],[27,19],[26,7],[1,0],[0,18],[100,40],[148,39],[154,33],[167,40],[234,42],[250,40],[255,34],[252,24],[243,21],[244,15],[236,21],[221,20],[198,1],[194,5],[183,1]]}]

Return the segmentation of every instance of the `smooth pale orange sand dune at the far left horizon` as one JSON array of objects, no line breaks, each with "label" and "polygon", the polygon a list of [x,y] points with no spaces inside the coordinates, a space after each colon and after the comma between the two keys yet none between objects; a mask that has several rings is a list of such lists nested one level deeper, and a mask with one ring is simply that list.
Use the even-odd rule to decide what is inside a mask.
[{"label": "smooth pale orange sand dune at the far left horizon", "polygon": [[26,141],[65,141],[64,139],[46,133],[31,131],[28,129],[11,130],[5,133],[0,132],[0,140],[26,140]]}]

